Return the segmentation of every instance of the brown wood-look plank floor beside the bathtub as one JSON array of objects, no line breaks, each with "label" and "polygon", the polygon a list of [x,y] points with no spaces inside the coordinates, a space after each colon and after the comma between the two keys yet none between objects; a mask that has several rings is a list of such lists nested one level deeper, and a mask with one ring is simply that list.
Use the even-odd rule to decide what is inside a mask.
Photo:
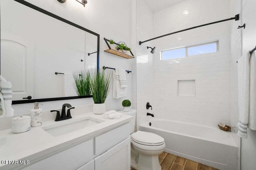
[{"label": "brown wood-look plank floor beside the bathtub", "polygon": [[[158,156],[162,170],[218,170],[207,165],[163,152]],[[135,170],[131,168],[131,170]]]}]

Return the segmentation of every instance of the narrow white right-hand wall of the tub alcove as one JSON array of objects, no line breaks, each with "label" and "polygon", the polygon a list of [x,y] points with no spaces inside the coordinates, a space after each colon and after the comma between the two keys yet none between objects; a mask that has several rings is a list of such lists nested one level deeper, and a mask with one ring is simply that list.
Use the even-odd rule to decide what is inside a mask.
[{"label": "narrow white right-hand wall of the tub alcove", "polygon": [[[241,14],[241,0],[230,1],[230,17]],[[242,16],[239,21],[230,22],[230,125],[232,127],[232,135],[238,145],[238,168],[240,169],[240,137],[237,135],[238,115],[238,72],[237,63],[242,53],[242,29],[237,29],[238,25],[242,25]]]}]

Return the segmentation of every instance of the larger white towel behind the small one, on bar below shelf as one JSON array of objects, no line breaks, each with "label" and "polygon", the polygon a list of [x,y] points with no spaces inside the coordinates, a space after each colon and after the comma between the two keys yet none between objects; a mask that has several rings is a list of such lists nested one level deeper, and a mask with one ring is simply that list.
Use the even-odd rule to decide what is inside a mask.
[{"label": "larger white towel behind the small one, on bar below shelf", "polygon": [[119,99],[126,97],[127,88],[121,88],[119,69],[116,69],[113,74],[113,98]]}]

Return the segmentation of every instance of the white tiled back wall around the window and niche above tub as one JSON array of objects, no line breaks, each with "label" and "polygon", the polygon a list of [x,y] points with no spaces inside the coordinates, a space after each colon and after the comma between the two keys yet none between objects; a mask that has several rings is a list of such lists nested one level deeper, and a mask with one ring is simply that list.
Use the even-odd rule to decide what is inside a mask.
[{"label": "white tiled back wall around the window and niche above tub", "polygon": [[[229,0],[186,0],[154,13],[154,37],[230,18],[228,9]],[[161,50],[212,41],[219,41],[218,53],[160,61]],[[229,124],[230,23],[169,35],[154,46],[155,116],[213,127]],[[178,80],[195,80],[196,97],[178,97]]]}]

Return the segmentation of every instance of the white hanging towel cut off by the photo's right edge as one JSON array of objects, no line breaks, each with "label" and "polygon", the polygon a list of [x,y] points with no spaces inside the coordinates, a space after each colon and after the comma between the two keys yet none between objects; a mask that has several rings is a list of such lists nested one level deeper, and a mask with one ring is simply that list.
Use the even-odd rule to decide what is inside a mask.
[{"label": "white hanging towel cut off by the photo's right edge", "polygon": [[249,122],[248,128],[256,130],[256,53],[250,58]]}]

